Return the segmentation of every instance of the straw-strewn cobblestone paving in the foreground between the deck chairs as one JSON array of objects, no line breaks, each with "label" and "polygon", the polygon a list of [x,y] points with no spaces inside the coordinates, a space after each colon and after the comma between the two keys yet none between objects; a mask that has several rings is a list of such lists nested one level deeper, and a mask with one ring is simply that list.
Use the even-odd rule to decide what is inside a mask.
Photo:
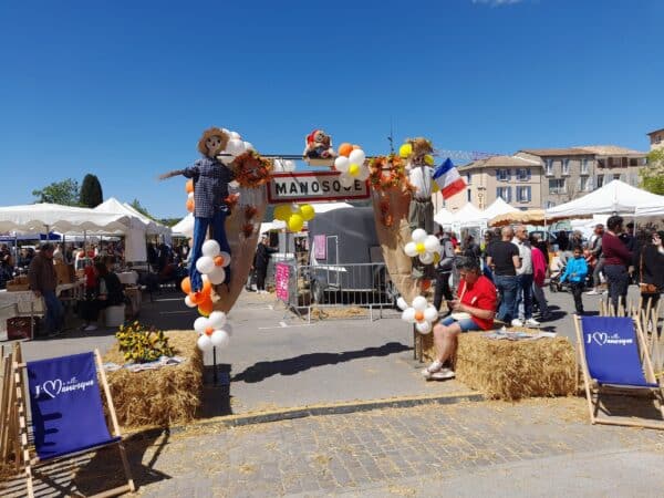
[{"label": "straw-strewn cobblestone paving in the foreground between the deck chairs", "polygon": [[[550,464],[542,464],[551,458],[569,461],[590,453],[592,461],[626,450],[650,455],[661,468],[664,434],[591,426],[584,400],[561,398],[378,409],[238,428],[193,425],[135,434],[128,450],[139,492],[151,497],[430,496],[439,494],[440,483],[463,475],[460,492],[487,473],[501,477],[505,494],[529,495],[523,483],[509,479],[510,468],[536,466],[541,479],[551,476]],[[50,484],[60,488],[49,491],[41,484],[39,495],[120,484],[114,450],[79,464],[73,484],[73,470],[58,467]],[[608,479],[610,474],[601,478]],[[22,490],[14,483],[0,494]]]}]

